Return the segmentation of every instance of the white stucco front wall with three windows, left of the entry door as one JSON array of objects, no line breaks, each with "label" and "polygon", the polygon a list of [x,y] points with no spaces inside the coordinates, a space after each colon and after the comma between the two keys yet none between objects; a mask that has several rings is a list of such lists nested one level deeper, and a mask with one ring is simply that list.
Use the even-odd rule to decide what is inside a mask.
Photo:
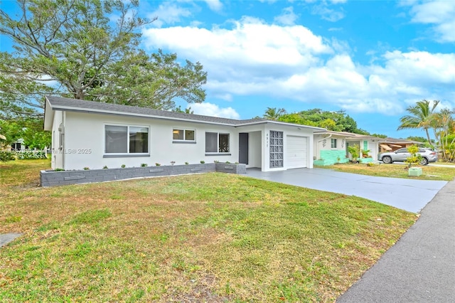
[{"label": "white stucco front wall with three windows, left of the entry door", "polygon": [[[105,125],[130,125],[149,127],[149,154],[150,156],[103,157],[105,156]],[[196,144],[173,143],[173,129],[195,129]],[[205,132],[225,132],[230,134],[230,153],[206,155]],[[65,169],[102,169],[141,166],[146,163],[154,166],[155,163],[170,165],[176,164],[212,163],[238,161],[238,132],[234,127],[200,124],[195,122],[172,122],[162,119],[138,117],[123,117],[117,115],[86,114],[67,112],[65,122]]]}]

